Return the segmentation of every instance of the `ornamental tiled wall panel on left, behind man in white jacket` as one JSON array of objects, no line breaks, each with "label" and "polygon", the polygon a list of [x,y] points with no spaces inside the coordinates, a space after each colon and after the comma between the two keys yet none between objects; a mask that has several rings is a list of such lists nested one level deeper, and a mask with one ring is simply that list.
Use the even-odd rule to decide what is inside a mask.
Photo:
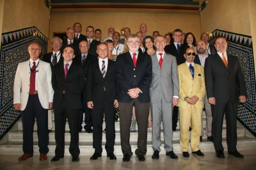
[{"label": "ornamental tiled wall panel on left, behind man in white jacket", "polygon": [[1,35],[0,54],[0,140],[17,122],[20,112],[13,107],[13,81],[19,62],[29,60],[28,45],[36,42],[47,50],[47,38],[36,28],[28,27]]}]

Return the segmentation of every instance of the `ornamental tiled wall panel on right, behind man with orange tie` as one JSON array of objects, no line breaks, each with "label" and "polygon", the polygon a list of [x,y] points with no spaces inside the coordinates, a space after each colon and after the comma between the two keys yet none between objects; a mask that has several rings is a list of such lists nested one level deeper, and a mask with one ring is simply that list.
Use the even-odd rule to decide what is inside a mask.
[{"label": "ornamental tiled wall panel on right, behind man with orange tie", "polygon": [[211,44],[214,43],[214,39],[217,36],[225,36],[227,38],[227,53],[237,56],[241,62],[248,97],[246,98],[246,103],[239,103],[238,105],[237,120],[256,137],[256,83],[252,36],[216,29],[212,32]]}]

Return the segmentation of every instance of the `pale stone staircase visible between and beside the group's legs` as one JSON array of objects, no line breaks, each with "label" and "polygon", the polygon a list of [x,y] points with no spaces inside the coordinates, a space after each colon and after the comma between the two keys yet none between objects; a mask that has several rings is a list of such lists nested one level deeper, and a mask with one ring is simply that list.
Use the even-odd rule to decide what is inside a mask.
[{"label": "pale stone staircase visible between and beside the group's legs", "polygon": [[[205,127],[205,113],[203,113],[203,124]],[[105,128],[105,122],[103,123],[103,129]],[[38,137],[36,134],[36,122],[33,132],[33,138],[34,138],[34,154],[39,155],[38,151]],[[136,127],[138,130],[138,127]],[[116,130],[116,140],[115,140],[115,155],[122,155],[121,145],[120,145],[120,123],[115,123],[115,130]],[[49,133],[49,153],[47,155],[54,155],[56,143],[54,139],[54,121],[53,121],[53,128],[52,131]],[[190,132],[189,132],[190,134]],[[102,148],[103,152],[102,155],[106,155],[106,151],[104,150],[104,145],[106,143],[106,134],[102,134]],[[226,122],[223,121],[223,146],[225,150],[227,150],[227,141],[226,141]],[[243,153],[242,150],[250,150],[250,149],[256,149],[256,138],[248,132],[243,125],[241,125],[237,121],[237,150],[241,153]],[[163,147],[163,125],[161,126],[161,138],[162,138],[162,146],[160,154],[165,154],[164,147]],[[130,135],[130,143],[132,146],[132,152],[135,152],[137,148],[137,139],[138,139],[138,131],[131,132]],[[175,153],[182,153],[180,149],[180,132],[179,132],[179,122],[177,126],[177,131],[173,132],[173,150]],[[79,148],[80,148],[80,155],[93,155],[94,149],[92,147],[92,134],[88,134],[87,132],[82,130],[82,132],[79,132]],[[152,133],[148,132],[148,138],[147,138],[147,155],[152,155]],[[0,155],[22,155],[22,122],[21,118],[17,121],[17,123],[12,127],[12,129],[4,136],[4,138],[0,141]],[[70,134],[68,129],[68,123],[66,124],[65,129],[65,155],[70,155],[68,152],[70,143]],[[207,140],[206,134],[203,136],[203,141],[200,143],[199,146],[200,150],[202,152],[214,152],[214,146],[211,141]],[[191,152],[189,148],[189,152]]]}]

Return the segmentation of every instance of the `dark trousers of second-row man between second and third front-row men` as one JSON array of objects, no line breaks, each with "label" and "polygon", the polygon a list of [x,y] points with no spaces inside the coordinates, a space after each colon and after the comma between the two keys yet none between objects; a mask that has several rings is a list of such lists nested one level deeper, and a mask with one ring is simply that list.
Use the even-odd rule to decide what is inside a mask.
[{"label": "dark trousers of second-row man between second and third front-row men", "polygon": [[91,129],[92,128],[92,110],[87,107],[86,102],[86,90],[84,90],[83,94],[81,95],[81,103],[83,109],[79,110],[80,116],[79,116],[79,129],[83,129],[83,120],[84,120],[84,129]]}]

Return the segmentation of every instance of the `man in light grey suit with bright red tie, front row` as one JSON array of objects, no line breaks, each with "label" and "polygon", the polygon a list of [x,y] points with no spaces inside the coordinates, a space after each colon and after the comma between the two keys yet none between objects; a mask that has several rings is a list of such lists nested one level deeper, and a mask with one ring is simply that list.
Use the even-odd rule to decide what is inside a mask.
[{"label": "man in light grey suit with bright red tie, front row", "polygon": [[[150,107],[153,119],[152,159],[159,159],[161,149],[161,120],[164,127],[164,149],[171,159],[178,159],[173,152],[172,109],[179,101],[179,75],[177,61],[173,55],[164,52],[164,36],[154,39],[156,53],[152,57],[153,79],[150,84]],[[164,61],[164,62],[163,62]]]}]

